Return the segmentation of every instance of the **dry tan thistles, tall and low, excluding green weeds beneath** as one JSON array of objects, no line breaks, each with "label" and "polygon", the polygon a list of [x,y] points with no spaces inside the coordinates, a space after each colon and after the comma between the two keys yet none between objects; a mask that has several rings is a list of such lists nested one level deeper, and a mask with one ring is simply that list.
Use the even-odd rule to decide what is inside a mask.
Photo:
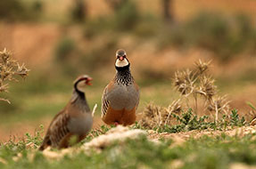
[{"label": "dry tan thistles, tall and low, excluding green weeds beneath", "polygon": [[[157,129],[166,125],[173,125],[172,117],[176,117],[178,122],[182,122],[179,116],[186,118],[186,115],[182,115],[182,113],[193,112],[197,115],[199,100],[203,102],[203,105],[201,105],[203,115],[212,115],[216,122],[220,115],[227,116],[230,110],[229,101],[227,101],[226,96],[218,95],[214,79],[208,73],[210,63],[211,61],[203,62],[199,60],[195,62],[193,70],[186,69],[175,72],[174,87],[180,93],[180,98],[173,101],[168,108],[150,103],[146,106],[138,124],[145,128]],[[193,111],[188,111],[189,109],[193,109]],[[205,117],[197,119],[196,116],[192,115],[191,119],[195,120],[196,123],[203,123],[202,119],[205,119]]]}]

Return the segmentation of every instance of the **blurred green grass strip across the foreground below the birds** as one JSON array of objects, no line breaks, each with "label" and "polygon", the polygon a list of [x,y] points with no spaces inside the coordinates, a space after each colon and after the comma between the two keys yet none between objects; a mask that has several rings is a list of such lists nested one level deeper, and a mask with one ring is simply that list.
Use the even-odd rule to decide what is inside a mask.
[{"label": "blurred green grass strip across the foreground below the birds", "polygon": [[[29,141],[38,144],[39,137],[27,135],[27,140],[18,143],[9,142],[0,146],[0,157],[8,165],[0,163],[2,169],[7,168],[171,168],[172,163],[180,161],[180,168],[228,168],[232,163],[256,165],[256,137],[247,134],[243,138],[221,134],[216,137],[202,136],[200,139],[189,139],[181,145],[171,140],[161,140],[155,144],[142,137],[135,141],[115,144],[101,153],[91,152],[89,155],[78,153],[63,157],[61,160],[47,160],[41,152],[36,152],[34,160],[29,161],[29,154],[34,149],[26,149]],[[14,162],[12,157],[18,153],[22,157]]]}]

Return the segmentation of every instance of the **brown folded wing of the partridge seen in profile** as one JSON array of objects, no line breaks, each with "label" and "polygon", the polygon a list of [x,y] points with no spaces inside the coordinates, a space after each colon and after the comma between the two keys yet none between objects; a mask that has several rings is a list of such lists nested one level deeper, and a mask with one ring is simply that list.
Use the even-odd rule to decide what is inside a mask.
[{"label": "brown folded wing of the partridge seen in profile", "polygon": [[64,110],[58,113],[49,125],[48,130],[45,134],[45,139],[39,150],[44,150],[48,146],[52,146],[55,148],[59,147],[62,139],[70,133],[67,127],[69,120],[70,116]]}]

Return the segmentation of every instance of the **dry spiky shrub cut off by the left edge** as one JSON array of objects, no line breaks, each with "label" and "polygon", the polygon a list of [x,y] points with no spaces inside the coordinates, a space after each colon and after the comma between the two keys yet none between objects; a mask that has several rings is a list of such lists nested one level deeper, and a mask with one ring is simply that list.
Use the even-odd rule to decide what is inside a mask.
[{"label": "dry spiky shrub cut off by the left edge", "polygon": [[[29,69],[25,67],[24,64],[20,65],[17,60],[12,59],[12,53],[4,49],[3,52],[0,52],[0,93],[7,93],[10,81],[18,80],[16,76],[21,76],[25,78],[28,76]],[[0,101],[10,101],[0,98]]]}]

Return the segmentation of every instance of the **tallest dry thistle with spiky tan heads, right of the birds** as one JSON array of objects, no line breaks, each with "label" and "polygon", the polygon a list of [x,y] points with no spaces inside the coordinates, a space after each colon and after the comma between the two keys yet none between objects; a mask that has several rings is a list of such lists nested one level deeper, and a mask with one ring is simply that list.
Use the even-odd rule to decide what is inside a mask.
[{"label": "tallest dry thistle with spiky tan heads, right of the birds", "polygon": [[[194,112],[197,113],[198,99],[204,102],[204,110],[210,111],[211,115],[215,114],[215,120],[218,121],[219,114],[227,115],[229,101],[227,96],[219,96],[214,79],[209,74],[209,62],[199,60],[195,62],[194,70],[177,71],[174,77],[175,89],[185,100],[194,100]],[[190,108],[193,106],[189,105]]]}]

